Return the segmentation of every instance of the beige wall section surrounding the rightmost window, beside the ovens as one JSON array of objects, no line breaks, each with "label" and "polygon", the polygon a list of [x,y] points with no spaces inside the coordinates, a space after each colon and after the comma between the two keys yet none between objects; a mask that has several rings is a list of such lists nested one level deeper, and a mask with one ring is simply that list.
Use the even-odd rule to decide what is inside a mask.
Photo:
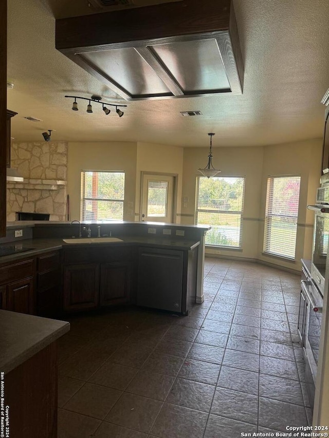
[{"label": "beige wall section surrounding the rightmost window, beside the ovens", "polygon": [[[259,259],[280,264],[289,269],[301,269],[301,258],[311,258],[314,213],[307,210],[308,204],[314,204],[316,188],[319,187],[321,168],[322,140],[314,139],[303,142],[264,147],[262,174],[261,210],[259,227]],[[296,262],[273,259],[264,256],[263,236],[268,176],[300,175],[300,197],[296,241]]]}]

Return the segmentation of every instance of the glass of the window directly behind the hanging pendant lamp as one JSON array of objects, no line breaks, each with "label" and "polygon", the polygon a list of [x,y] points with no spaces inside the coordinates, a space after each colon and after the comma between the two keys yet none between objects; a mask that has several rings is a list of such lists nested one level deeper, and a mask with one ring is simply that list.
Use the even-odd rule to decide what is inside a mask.
[{"label": "glass of the window directly behind the hanging pendant lamp", "polygon": [[211,225],[206,245],[241,246],[245,179],[197,177],[195,223]]}]

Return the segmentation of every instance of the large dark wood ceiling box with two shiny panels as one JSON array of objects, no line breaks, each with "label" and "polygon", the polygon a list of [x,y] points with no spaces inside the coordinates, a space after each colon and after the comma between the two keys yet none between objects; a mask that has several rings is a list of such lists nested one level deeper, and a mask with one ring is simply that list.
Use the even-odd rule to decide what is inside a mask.
[{"label": "large dark wood ceiling box with two shiny panels", "polygon": [[61,18],[56,48],[127,101],[243,92],[232,0]]}]

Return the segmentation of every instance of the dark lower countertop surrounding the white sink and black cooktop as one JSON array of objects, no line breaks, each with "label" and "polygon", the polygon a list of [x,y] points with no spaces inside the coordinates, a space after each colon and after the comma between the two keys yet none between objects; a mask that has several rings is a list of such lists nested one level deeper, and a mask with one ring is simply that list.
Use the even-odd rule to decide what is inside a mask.
[{"label": "dark lower countertop surrounding the white sink and black cooktop", "polygon": [[170,237],[149,237],[149,236],[114,236],[122,239],[122,242],[102,242],[102,243],[65,243],[62,238],[35,238],[35,239],[24,239],[16,242],[4,243],[5,245],[22,245],[26,248],[31,248],[30,251],[25,251],[21,253],[11,254],[8,256],[1,256],[0,263],[6,263],[8,261],[13,261],[17,259],[22,259],[42,253],[46,253],[49,251],[61,250],[63,247],[65,248],[75,248],[81,247],[81,249],[85,247],[97,247],[100,245],[111,245],[111,246],[122,246],[122,245],[145,245],[145,246],[157,246],[163,249],[174,249],[174,250],[193,250],[196,246],[200,244],[199,241],[195,240],[187,240],[187,239],[172,239]]}]

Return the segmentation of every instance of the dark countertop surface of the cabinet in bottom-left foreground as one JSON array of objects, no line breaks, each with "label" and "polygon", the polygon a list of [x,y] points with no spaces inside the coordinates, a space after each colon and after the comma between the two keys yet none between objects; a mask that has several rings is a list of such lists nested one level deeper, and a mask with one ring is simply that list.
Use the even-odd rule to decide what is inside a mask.
[{"label": "dark countertop surface of the cabinet in bottom-left foreground", "polygon": [[0,310],[0,371],[9,373],[69,329],[69,322]]}]

